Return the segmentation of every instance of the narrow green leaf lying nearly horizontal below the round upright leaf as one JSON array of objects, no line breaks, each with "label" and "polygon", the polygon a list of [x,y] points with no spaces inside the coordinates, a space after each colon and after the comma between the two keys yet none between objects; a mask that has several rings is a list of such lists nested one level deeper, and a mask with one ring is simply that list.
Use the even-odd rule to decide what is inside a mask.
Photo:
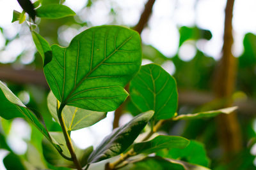
[{"label": "narrow green leaf lying nearly horizontal below the round upright leaf", "polygon": [[159,135],[156,138],[141,143],[135,143],[133,149],[136,153],[154,153],[164,148],[185,148],[189,140],[180,136]]}]

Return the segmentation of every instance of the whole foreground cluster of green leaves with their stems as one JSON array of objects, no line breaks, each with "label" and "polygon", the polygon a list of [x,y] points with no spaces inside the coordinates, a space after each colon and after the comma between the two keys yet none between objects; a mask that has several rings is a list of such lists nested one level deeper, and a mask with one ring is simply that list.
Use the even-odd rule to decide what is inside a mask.
[{"label": "whole foreground cluster of green leaves with their stems", "polygon": [[[61,4],[36,2],[32,5],[33,8],[24,7],[22,3],[20,5],[33,20],[35,16],[61,18],[74,15],[72,10]],[[14,11],[13,22],[19,20],[21,23],[24,20],[24,12],[22,13]],[[0,116],[5,119],[25,118],[34,125],[44,136],[42,152],[49,164],[79,169],[72,155],[74,150],[75,159],[81,167],[88,167],[90,164],[122,153],[124,156],[106,164],[106,167],[108,169],[152,169],[152,167],[207,169],[209,167],[204,146],[200,143],[180,136],[159,135],[157,131],[166,120],[214,117],[220,113],[231,113],[236,107],[177,115],[176,82],[157,64],[140,66],[141,41],[137,32],[114,25],[92,27],[73,38],[67,48],[59,45],[50,46],[40,34],[35,31],[31,31],[31,34],[42,56],[45,78],[51,89],[47,97],[48,108],[54,120],[60,124],[62,132],[49,132],[42,119],[36,117],[38,114],[27,108],[1,81]],[[124,89],[129,81],[131,81],[129,90],[131,101],[140,113],[106,136],[94,150],[92,146],[84,150],[77,148],[70,141],[70,132],[89,127],[105,118],[108,111],[116,110],[129,95]],[[151,129],[146,132],[147,136],[140,134],[146,125]],[[138,136],[140,140],[134,143]],[[73,148],[68,146],[70,143]],[[7,145],[3,143],[3,146]],[[202,154],[196,157],[193,155],[195,153],[193,150]],[[151,156],[151,153],[155,155]],[[22,160],[12,152],[4,159],[5,166],[13,166],[10,164],[10,160],[13,159],[20,162],[16,166],[23,167]]]}]

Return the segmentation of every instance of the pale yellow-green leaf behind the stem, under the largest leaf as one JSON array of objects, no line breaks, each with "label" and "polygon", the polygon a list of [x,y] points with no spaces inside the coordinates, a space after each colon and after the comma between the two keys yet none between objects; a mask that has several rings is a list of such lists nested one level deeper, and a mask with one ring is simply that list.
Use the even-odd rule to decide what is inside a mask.
[{"label": "pale yellow-green leaf behind the stem, under the largest leaf", "polygon": [[[47,97],[47,105],[52,117],[56,122],[59,122],[56,111],[57,99],[52,92]],[[105,112],[83,110],[73,106],[65,106],[62,115],[68,131],[75,131],[91,126],[106,117]]]}]

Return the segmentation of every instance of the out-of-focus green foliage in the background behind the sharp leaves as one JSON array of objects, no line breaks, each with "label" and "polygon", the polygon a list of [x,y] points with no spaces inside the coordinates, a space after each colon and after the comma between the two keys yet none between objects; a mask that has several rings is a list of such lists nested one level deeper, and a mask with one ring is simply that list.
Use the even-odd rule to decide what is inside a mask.
[{"label": "out-of-focus green foliage in the background behind the sharp leaves", "polygon": [[[40,0],[40,2],[44,5],[46,4],[62,4],[64,1],[60,0]],[[90,20],[81,19],[81,16],[88,15],[88,13],[93,12],[92,9],[95,8],[94,4],[97,1],[88,0],[83,9],[78,13],[78,17],[65,17],[56,20],[50,20],[45,18],[36,18],[35,23],[38,24],[36,31],[40,31],[40,34],[47,39],[48,42],[52,44],[60,43],[61,45],[66,45],[65,40],[61,39],[61,33],[69,30],[69,34],[76,35],[78,32],[87,29],[88,27],[93,26]],[[111,6],[109,10],[109,16],[113,17],[113,20],[108,22],[108,24],[118,24],[116,18],[118,18],[118,8],[119,6]],[[25,7],[24,7],[25,10]],[[120,9],[119,9],[120,10]],[[29,11],[25,10],[25,11]],[[30,10],[31,16],[33,17],[33,10]],[[86,12],[84,12],[86,11]],[[15,20],[20,20],[20,15],[22,11],[15,12]],[[40,24],[39,24],[40,23]],[[30,34],[28,31],[28,26],[26,22],[19,26],[19,32],[12,36],[11,38],[4,33],[4,29],[0,27],[0,31],[3,33],[5,38],[5,47],[0,50],[4,50],[6,46],[10,45],[16,39],[22,38],[24,35]],[[71,32],[71,33],[70,33]],[[189,61],[184,61],[179,57],[178,52],[172,57],[166,57],[163,53],[159,52],[154,46],[151,45],[143,45],[143,58],[151,60],[156,64],[163,64],[166,60],[171,61],[175,66],[175,72],[173,73],[173,77],[175,77],[177,81],[177,85],[179,89],[185,90],[198,90],[198,91],[212,91],[212,83],[214,76],[214,68],[218,61],[214,60],[211,56],[205,54],[202,50],[198,49],[196,46],[196,42],[198,40],[204,39],[204,41],[208,41],[212,38],[212,34],[210,31],[202,29],[197,25],[193,27],[182,26],[179,28],[179,47],[184,45],[186,41],[193,40],[195,41],[196,54],[193,59]],[[66,34],[67,35],[67,34]],[[69,40],[68,40],[69,41]],[[236,90],[240,90],[246,94],[248,97],[252,97],[252,99],[256,99],[256,35],[252,33],[247,33],[243,39],[243,47],[244,52],[237,58],[237,81],[236,81]],[[35,52],[34,52],[35,53]],[[26,50],[23,50],[17,58],[12,62],[5,65],[9,65],[12,67],[28,67],[32,69],[42,69],[42,59],[38,52],[35,53],[35,59],[31,62],[24,64],[22,63],[22,57],[26,56]],[[0,64],[3,66],[4,64]],[[42,114],[44,118],[45,125],[49,127],[49,131],[61,131],[60,125],[52,120],[51,114],[47,109],[47,94],[49,89],[45,89],[44,87],[38,87],[35,85],[17,85],[12,82],[8,83],[8,87],[12,90],[15,95],[18,95],[21,91],[26,91],[29,94],[29,103],[27,104],[28,108],[36,108]],[[180,105],[179,111],[182,112],[190,112],[201,110],[202,107],[195,106],[186,106]],[[140,111],[131,103],[131,101],[127,101],[127,105],[125,111],[132,113],[132,115],[138,115]],[[248,117],[247,115],[239,114],[239,123],[242,127],[243,132],[243,144],[244,150],[241,153],[238,153],[236,157],[234,157],[233,161],[230,164],[225,164],[221,162],[221,148],[218,143],[218,135],[216,132],[216,124],[214,122],[214,118],[207,120],[186,120],[182,121],[182,123],[173,122],[172,124],[165,125],[162,130],[167,134],[179,134],[184,138],[195,139],[196,141],[200,141],[204,143],[204,146],[196,141],[191,141],[191,146],[193,147],[193,152],[188,150],[184,150],[184,152],[196,153],[196,156],[189,155],[189,157],[183,156],[182,152],[175,152],[175,150],[170,150],[170,152],[166,152],[164,154],[168,154],[170,158],[179,157],[181,160],[187,160],[191,163],[201,164],[203,166],[209,166],[212,169],[255,169],[253,166],[253,160],[255,160],[255,155],[252,155],[251,149],[255,144],[255,129],[253,129],[255,122],[255,115]],[[8,142],[5,138],[8,135],[8,131],[10,131],[10,127],[12,126],[12,121],[1,120],[0,123],[0,148],[4,150],[8,150],[10,153],[4,158],[4,165],[8,169],[22,169],[26,167],[26,161],[31,162],[33,157],[22,155],[22,159],[17,156],[12,148],[8,145]],[[179,127],[177,131],[171,130],[174,127]],[[31,126],[31,139],[26,141],[28,146],[30,147],[27,150],[27,155],[36,155],[36,158],[43,158],[42,155],[42,135],[38,132],[35,127]],[[175,134],[175,135],[176,135]],[[195,147],[195,148],[194,148]],[[191,148],[190,148],[191,149]],[[159,153],[160,154],[160,153]],[[163,153],[161,153],[163,154]],[[185,154],[185,153],[184,153]],[[199,157],[199,158],[198,158]],[[198,159],[197,159],[198,158]],[[195,160],[196,159],[196,160]],[[211,161],[210,161],[210,160]],[[17,164],[12,164],[15,161]],[[56,168],[48,164],[46,161],[42,161],[43,164],[33,164],[33,167],[45,167],[49,169],[63,169]],[[153,162],[153,163],[152,163]],[[154,163],[156,162],[156,163]],[[211,164],[209,163],[211,162]],[[27,162],[28,163],[28,162]],[[159,169],[164,169],[165,165],[172,164],[167,162],[166,160],[155,159],[147,159],[144,162],[140,162],[136,165],[136,167],[143,167],[145,169],[150,168],[150,166],[159,167]],[[13,166],[18,166],[13,167]],[[182,169],[177,164],[172,164],[173,167],[177,169]]]}]

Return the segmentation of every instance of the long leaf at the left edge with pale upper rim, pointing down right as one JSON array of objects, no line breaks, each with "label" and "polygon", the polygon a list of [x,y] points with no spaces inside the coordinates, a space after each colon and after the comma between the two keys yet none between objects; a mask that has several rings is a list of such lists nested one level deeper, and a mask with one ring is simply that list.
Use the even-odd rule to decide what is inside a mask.
[{"label": "long leaf at the left edge with pale upper rim, pointing down right", "polygon": [[15,117],[26,118],[37,129],[44,134],[44,136],[51,141],[49,134],[47,133],[44,125],[42,125],[38,118],[32,113],[26,106],[16,97],[2,81],[0,81],[0,116],[5,119],[11,119]]}]

